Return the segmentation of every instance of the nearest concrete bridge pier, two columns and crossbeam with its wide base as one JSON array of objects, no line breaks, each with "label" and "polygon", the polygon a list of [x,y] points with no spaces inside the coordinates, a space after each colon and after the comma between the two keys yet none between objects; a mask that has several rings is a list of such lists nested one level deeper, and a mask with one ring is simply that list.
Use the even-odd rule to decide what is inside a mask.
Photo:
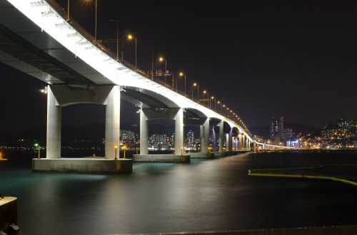
[{"label": "nearest concrete bridge pier, two columns and crossbeam with its wide base", "polygon": [[[67,85],[47,88],[46,158],[32,160],[32,169],[55,172],[131,172],[132,160],[115,156],[120,137],[120,87],[97,86],[71,90]],[[105,157],[61,158],[61,108],[78,103],[106,105]],[[118,160],[114,160],[118,157]]]}]

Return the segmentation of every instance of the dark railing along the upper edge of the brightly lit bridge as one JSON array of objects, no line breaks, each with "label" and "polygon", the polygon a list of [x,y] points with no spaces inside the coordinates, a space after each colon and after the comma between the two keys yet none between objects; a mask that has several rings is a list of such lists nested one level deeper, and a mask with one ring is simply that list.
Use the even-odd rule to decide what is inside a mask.
[{"label": "dark railing along the upper edge of the brightly lit bridge", "polygon": [[[67,16],[67,12],[66,10],[57,3],[56,0],[45,0],[63,19],[66,19]],[[109,48],[107,48],[106,46],[104,46],[103,43],[101,43],[100,40],[95,40],[94,36],[91,35],[91,33],[89,33],[88,31],[86,31],[86,29],[84,29],[79,23],[77,23],[74,19],[70,19],[68,21],[68,23],[71,24],[72,27],[74,27],[76,29],[76,31],[79,31],[79,33],[81,33],[81,36],[84,36],[84,38],[86,38],[88,41],[91,41],[94,46],[96,46],[97,48],[99,48],[101,51],[103,51],[104,53],[106,53],[108,56],[110,56],[111,58],[113,58],[114,60],[117,60],[118,58],[116,58],[116,53],[114,53],[113,51],[111,51]],[[124,66],[126,66],[127,68],[130,68],[132,71],[135,71],[136,73],[139,73],[140,75],[143,75],[146,78],[151,78],[151,74],[149,73],[149,71],[144,71],[140,68],[138,68],[137,66],[134,66],[134,64],[130,63],[129,61],[123,60],[123,61],[119,61],[120,63],[124,64]],[[154,71],[152,71],[152,73],[154,73]],[[229,113],[226,112],[221,112],[222,110],[219,110],[218,108],[213,109],[211,107],[209,107],[209,103],[207,102],[207,104],[205,102],[201,102],[201,100],[198,99],[194,99],[192,97],[190,97],[190,95],[187,95],[185,92],[183,92],[182,90],[178,90],[176,88],[176,90],[174,89],[174,87],[172,85],[169,85],[168,83],[166,83],[163,80],[159,80],[159,79],[152,79],[155,83],[159,83],[160,85],[164,85],[164,87],[169,88],[171,90],[173,90],[174,92],[185,96],[188,99],[193,100],[194,102],[205,106],[206,108],[212,109],[214,110],[216,113],[221,114],[224,117],[227,117],[228,119],[232,119],[232,120],[236,120],[236,122],[240,122],[236,117],[233,117],[231,115],[229,115]]]}]

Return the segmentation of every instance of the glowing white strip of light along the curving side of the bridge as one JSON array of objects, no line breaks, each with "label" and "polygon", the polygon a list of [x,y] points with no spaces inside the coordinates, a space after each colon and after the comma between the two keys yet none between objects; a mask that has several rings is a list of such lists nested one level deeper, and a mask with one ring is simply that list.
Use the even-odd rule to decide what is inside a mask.
[{"label": "glowing white strip of light along the curving side of the bridge", "polygon": [[[81,33],[63,19],[46,1],[44,0],[7,0],[21,11],[26,17],[33,21],[41,30],[48,33],[52,38],[61,43],[66,49],[88,63],[89,66],[104,75],[113,83],[122,86],[131,86],[151,90],[159,93],[178,107],[193,108],[201,111],[207,117],[216,117],[228,122],[231,127],[238,127],[239,132],[244,133],[249,140],[251,137],[247,132],[233,120],[229,120],[213,110],[194,102],[191,99],[180,95],[173,90],[158,85],[154,81],[126,68],[123,64],[108,56],[104,51],[94,45],[93,42],[81,36]],[[100,81],[96,81],[100,82]]]}]

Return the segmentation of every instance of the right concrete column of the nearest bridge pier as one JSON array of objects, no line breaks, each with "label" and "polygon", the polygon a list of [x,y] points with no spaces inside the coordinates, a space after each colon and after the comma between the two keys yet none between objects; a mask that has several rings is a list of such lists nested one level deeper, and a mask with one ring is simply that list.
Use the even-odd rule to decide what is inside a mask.
[{"label": "right concrete column of the nearest bridge pier", "polygon": [[116,157],[119,158],[120,142],[120,88],[114,85],[106,98],[106,159],[115,158],[114,146],[118,146]]}]

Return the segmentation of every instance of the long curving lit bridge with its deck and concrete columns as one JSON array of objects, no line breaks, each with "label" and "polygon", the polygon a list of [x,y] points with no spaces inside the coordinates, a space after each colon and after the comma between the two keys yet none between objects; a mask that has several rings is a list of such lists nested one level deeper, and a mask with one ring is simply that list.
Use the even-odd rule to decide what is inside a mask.
[{"label": "long curving lit bridge with its deck and concrete columns", "polygon": [[61,160],[61,108],[79,103],[106,105],[105,159],[116,160],[121,98],[139,108],[140,154],[134,160],[152,160],[148,121],[160,118],[175,120],[174,156],[181,160],[184,125],[200,126],[201,152],[191,157],[212,155],[211,131],[215,138],[218,132],[216,156],[224,154],[223,138],[228,152],[259,144],[232,110],[212,110],[119,61],[78,23],[66,21],[66,12],[54,0],[0,0],[0,22],[0,61],[48,84],[46,160]]}]

